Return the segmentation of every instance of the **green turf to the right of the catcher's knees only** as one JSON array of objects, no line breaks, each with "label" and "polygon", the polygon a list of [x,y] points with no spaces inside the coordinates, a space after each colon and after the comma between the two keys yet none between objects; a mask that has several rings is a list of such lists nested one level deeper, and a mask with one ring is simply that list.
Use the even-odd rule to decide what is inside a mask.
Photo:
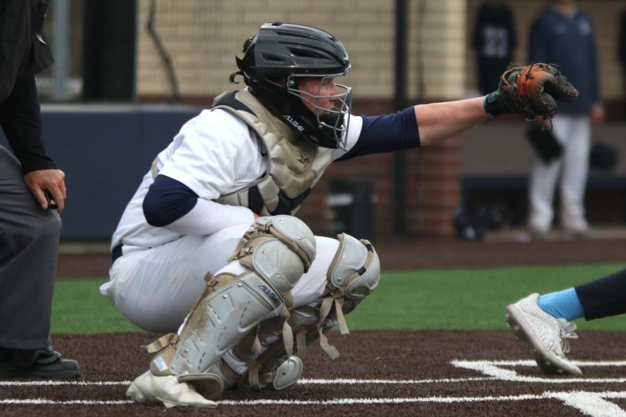
[{"label": "green turf to the right of the catcher's knees only", "polygon": [[[505,329],[504,309],[530,293],[548,293],[603,277],[623,265],[567,265],[387,272],[346,317],[351,329]],[[581,329],[626,330],[626,316]]]}]

